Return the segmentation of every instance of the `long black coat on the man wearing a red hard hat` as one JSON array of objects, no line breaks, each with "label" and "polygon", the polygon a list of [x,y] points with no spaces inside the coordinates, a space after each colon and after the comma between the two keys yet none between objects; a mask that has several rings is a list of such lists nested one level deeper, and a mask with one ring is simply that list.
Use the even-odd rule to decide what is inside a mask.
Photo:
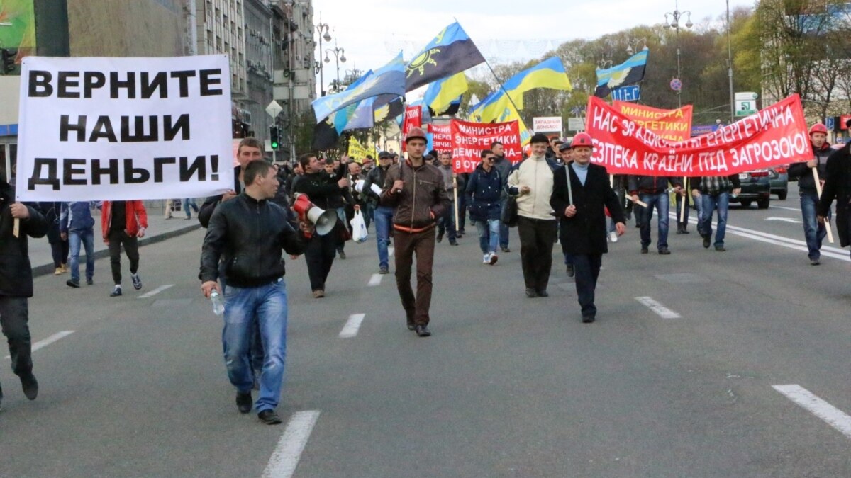
[{"label": "long black coat on the man wearing a red hard hat", "polygon": [[[576,215],[572,218],[564,216],[564,212],[570,205],[566,170],[570,174],[570,185],[576,206]],[[597,164],[588,165],[585,185],[582,185],[579,177],[576,176],[574,168],[563,166],[556,169],[552,177],[550,205],[557,218],[562,221],[560,237],[565,253],[608,253],[605,208],[608,208],[614,222],[625,222],[624,210],[620,207],[618,196],[608,184],[606,168]]]}]

